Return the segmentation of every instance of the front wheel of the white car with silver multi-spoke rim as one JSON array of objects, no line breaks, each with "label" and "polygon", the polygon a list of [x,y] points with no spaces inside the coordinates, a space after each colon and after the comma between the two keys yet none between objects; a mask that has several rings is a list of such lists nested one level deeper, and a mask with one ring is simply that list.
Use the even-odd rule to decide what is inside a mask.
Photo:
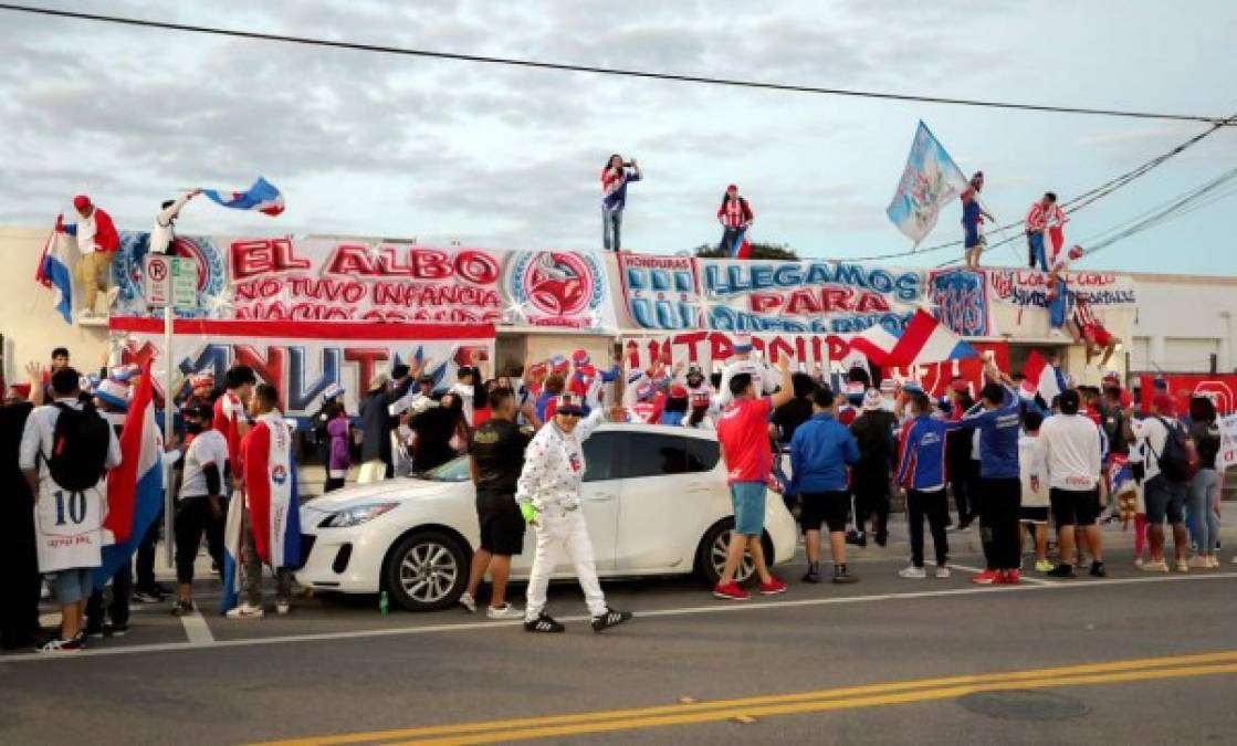
[{"label": "front wheel of the white car with silver multi-spoke rim", "polygon": [[417,531],[403,537],[382,568],[383,588],[408,611],[454,606],[468,586],[468,553],[455,537],[442,531]]}]

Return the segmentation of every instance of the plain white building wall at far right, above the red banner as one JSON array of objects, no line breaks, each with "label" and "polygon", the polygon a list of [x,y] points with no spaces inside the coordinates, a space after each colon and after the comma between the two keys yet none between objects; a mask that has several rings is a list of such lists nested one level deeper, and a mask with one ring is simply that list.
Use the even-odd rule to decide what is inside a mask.
[{"label": "plain white building wall at far right, above the red banner", "polygon": [[1132,370],[1209,372],[1212,353],[1218,371],[1237,370],[1237,277],[1134,275],[1134,280]]}]

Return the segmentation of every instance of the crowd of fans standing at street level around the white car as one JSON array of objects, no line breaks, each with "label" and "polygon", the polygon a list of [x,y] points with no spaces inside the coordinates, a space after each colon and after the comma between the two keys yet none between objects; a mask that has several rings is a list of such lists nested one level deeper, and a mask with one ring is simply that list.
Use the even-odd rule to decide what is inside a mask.
[{"label": "crowd of fans standing at street level around the white car", "polygon": [[[857,581],[847,547],[887,543],[894,496],[904,499],[909,523],[910,562],[899,573],[907,579],[928,575],[925,522],[933,574],[948,578],[949,531],[970,531],[976,518],[986,568],[972,580],[981,584],[1018,583],[1028,542],[1035,572],[1072,578],[1085,568],[1103,577],[1102,521],[1133,523],[1136,564],[1144,572],[1184,573],[1220,562],[1213,402],[1195,397],[1190,411],[1179,413],[1174,398],[1157,390],[1148,411],[1138,412],[1116,374],[1101,387],[1066,385],[1050,402],[991,359],[977,392],[957,379],[948,397],[933,400],[914,382],[876,382],[862,367],[852,369],[835,392],[820,371],[792,371],[785,358],[777,366],[766,364],[742,335],[735,339],[734,356],[711,375],[683,364],[625,369],[617,358],[599,366],[585,350],[529,360],[489,379],[480,367],[461,365],[449,386],[440,386],[444,369],[432,360],[397,365],[370,381],[355,413],[346,411],[345,390],[330,384],[308,423],[309,445],[325,469],[327,491],[345,484],[354,463],[357,481],[372,482],[469,455],[481,541],[460,602],[477,610],[489,573],[487,616],[523,619],[531,632],[563,630],[546,609],[546,586],[560,553],[575,567],[595,630],[631,619],[606,604],[579,510],[580,443],[602,422],[716,432],[735,516],[727,560],[713,590],[721,599],[750,598],[735,581],[745,553],[755,563],[758,593],[787,590],[769,572],[761,546],[769,494],[782,495],[802,527],[804,583],[826,577],[836,584]],[[5,647],[33,643],[40,578],[62,612],[59,631],[42,642],[48,652],[80,650],[94,635],[124,635],[130,602],[158,604],[171,594],[172,614],[197,614],[193,580],[203,539],[218,572],[233,511],[241,525],[245,584],[242,602],[228,616],[265,614],[263,564],[277,578],[276,611],[289,612],[291,564],[272,555],[251,517],[261,510],[250,505],[251,495],[268,489],[259,481],[266,474],[244,469],[247,461],[266,464],[272,440],[288,443],[283,458],[291,463],[292,428],[280,417],[275,387],[235,366],[218,386],[209,375],[189,376],[173,402],[176,431],[165,455],[174,464],[177,496],[177,586],[171,591],[155,581],[161,520],[142,536],[136,567],[125,563],[110,578],[96,577],[104,485],[121,463],[118,435],[136,367],[83,376],[69,365],[68,350],[58,348],[47,369],[32,364],[27,374],[28,382],[6,391],[0,417],[10,494],[4,543],[14,568],[5,577],[5,598],[16,600],[5,607]],[[89,537],[75,538],[71,551],[57,549],[45,536],[47,526],[66,520],[77,523],[75,537]],[[1049,558],[1050,523],[1055,562]],[[527,606],[518,610],[506,599],[506,581],[529,525],[537,531],[536,554]],[[831,573],[820,567],[823,532]]]}]

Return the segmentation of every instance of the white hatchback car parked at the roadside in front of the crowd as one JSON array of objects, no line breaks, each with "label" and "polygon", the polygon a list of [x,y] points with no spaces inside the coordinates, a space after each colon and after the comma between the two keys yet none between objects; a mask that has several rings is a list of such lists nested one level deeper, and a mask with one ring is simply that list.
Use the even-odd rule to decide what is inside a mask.
[{"label": "white hatchback car parked at the roadside in front of the crowd", "polygon": [[[699,573],[716,583],[734,527],[726,471],[714,433],[606,424],[584,442],[583,510],[602,578]],[[781,496],[764,517],[769,563],[788,562],[798,531]],[[297,581],[319,591],[386,590],[409,610],[445,609],[468,585],[477,546],[475,490],[461,457],[418,479],[330,492],[301,508],[303,565]],[[527,579],[534,529],[512,560]],[[555,577],[573,577],[564,563]],[[738,579],[753,574],[745,558]]]}]

